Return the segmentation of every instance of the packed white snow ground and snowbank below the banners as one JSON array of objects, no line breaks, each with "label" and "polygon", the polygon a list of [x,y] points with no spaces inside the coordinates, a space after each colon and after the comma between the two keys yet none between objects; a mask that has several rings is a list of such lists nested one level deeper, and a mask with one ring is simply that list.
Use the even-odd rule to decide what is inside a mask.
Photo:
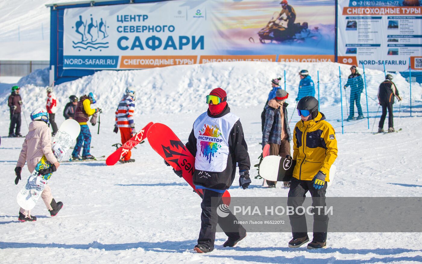
[{"label": "packed white snow ground and snowbank below the banners", "polygon": [[[107,157],[114,151],[111,145],[120,141],[120,135],[113,133],[114,111],[124,89],[135,87],[136,128],[141,129],[150,121],[164,123],[186,142],[195,118],[207,109],[205,96],[212,88],[222,87],[227,91],[232,112],[241,118],[252,165],[249,189],[238,187],[236,178],[230,194],[233,197],[286,197],[288,189],[281,186],[267,189],[261,186],[262,180],[254,179],[257,170],[253,165],[261,154],[260,114],[271,89],[271,79],[282,77],[281,86],[284,88],[286,70],[287,109],[289,118],[293,114],[292,129],[298,121],[298,115],[294,113],[298,71],[308,69],[317,84],[319,70],[320,110],[335,127],[338,140],[337,173],[327,196],[420,197],[422,133],[417,128],[422,126],[421,86],[412,83],[414,108],[410,117],[409,83],[399,74],[393,74],[403,96],[401,104],[394,104],[395,128],[403,130],[372,135],[374,118],[378,123],[381,114],[377,113],[378,104],[373,99],[379,83],[384,80],[384,73],[366,71],[370,129],[365,118],[344,122],[342,134],[341,121],[337,121],[342,110],[339,66],[344,85],[349,66],[337,63],[209,63],[139,71],[101,71],[54,88],[59,105],[56,121],[60,125],[64,120],[62,110],[68,96],[81,96],[90,91],[97,93],[97,106],[103,109],[103,113],[99,135],[98,125],[89,126],[91,153]],[[19,81],[27,122],[32,109],[45,106],[46,83],[42,80],[40,71]],[[0,84],[1,136],[8,135],[6,102],[10,87]],[[346,117],[344,90],[342,96]],[[349,98],[349,88],[347,96]],[[361,102],[366,115],[364,93]],[[376,127],[377,124],[374,129]],[[22,134],[26,133],[27,124],[22,119]],[[25,166],[22,181],[17,186],[14,184],[14,168],[22,142],[22,138],[1,138],[0,169],[4,172],[0,192],[3,201],[0,207],[1,263],[349,264],[422,261],[422,238],[418,233],[329,233],[327,249],[324,250],[290,249],[287,247],[290,233],[248,233],[236,247],[223,248],[225,234],[217,233],[213,252],[194,253],[192,249],[200,229],[200,198],[164,165],[147,142],[133,150],[134,163],[106,166],[103,160],[63,162],[49,181],[55,200],[64,203],[63,209],[52,218],[39,201],[32,210],[38,220],[20,223],[17,221],[16,194],[29,176]]]}]

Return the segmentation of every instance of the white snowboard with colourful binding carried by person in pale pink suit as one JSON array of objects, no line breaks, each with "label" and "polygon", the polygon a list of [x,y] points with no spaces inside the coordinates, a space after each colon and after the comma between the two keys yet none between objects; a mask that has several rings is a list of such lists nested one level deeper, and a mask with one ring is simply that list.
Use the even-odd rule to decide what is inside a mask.
[{"label": "white snowboard with colourful binding carried by person in pale pink suit", "polygon": [[[56,135],[53,137],[51,143],[54,156],[58,161],[66,156],[66,152],[76,140],[76,137],[78,137],[80,131],[81,126],[73,119],[65,120],[62,123]],[[50,166],[50,162],[46,159],[46,156],[43,155],[30,176],[38,175],[38,170],[49,168]],[[28,177],[28,180],[30,176]],[[49,180],[51,173],[41,175],[41,177],[43,177],[45,180]],[[28,180],[25,182],[24,186],[22,186],[21,190],[19,190],[18,195],[16,196],[16,201],[18,202],[19,206],[25,210],[31,210],[34,208],[35,204],[41,196],[41,193],[43,192],[43,190],[39,191],[35,188],[31,188]]]}]

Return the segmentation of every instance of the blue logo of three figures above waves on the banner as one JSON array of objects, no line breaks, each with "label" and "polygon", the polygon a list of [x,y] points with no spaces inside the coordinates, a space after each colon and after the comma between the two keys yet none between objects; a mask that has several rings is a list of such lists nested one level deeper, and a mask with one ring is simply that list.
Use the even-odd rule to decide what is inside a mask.
[{"label": "blue logo of three figures above waves on the banner", "polygon": [[101,17],[100,22],[98,22],[98,19],[95,19],[92,14],[89,16],[88,23],[87,19],[84,21],[82,15],[79,15],[79,19],[76,20],[75,26],[72,27],[77,33],[77,35],[74,36],[77,36],[77,38],[80,39],[80,41],[72,41],[72,47],[78,51],[102,51],[102,49],[109,47],[108,41],[103,41],[103,39],[109,36],[107,33],[107,21]]}]

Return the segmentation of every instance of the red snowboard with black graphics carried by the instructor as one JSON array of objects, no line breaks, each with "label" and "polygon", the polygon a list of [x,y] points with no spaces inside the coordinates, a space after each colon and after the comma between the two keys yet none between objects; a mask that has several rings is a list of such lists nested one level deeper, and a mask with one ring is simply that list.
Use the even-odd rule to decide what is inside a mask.
[{"label": "red snowboard with black graphics carried by the instructor", "polygon": [[[182,170],[182,176],[187,183],[202,198],[202,190],[195,189],[193,173],[195,171],[195,157],[187,150],[179,137],[165,124],[154,123],[148,130],[146,137],[151,147],[165,159],[175,170]],[[226,190],[223,202],[230,203],[230,193]]]}]

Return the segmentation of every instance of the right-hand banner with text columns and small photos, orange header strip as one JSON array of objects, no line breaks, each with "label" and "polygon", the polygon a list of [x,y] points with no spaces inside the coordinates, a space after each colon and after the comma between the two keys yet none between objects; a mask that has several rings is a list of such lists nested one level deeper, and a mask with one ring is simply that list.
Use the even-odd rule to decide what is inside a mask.
[{"label": "right-hand banner with text columns and small photos, orange header strip", "polygon": [[[338,0],[338,62],[387,71],[422,68],[419,0]],[[418,68],[419,67],[419,68]]]}]

